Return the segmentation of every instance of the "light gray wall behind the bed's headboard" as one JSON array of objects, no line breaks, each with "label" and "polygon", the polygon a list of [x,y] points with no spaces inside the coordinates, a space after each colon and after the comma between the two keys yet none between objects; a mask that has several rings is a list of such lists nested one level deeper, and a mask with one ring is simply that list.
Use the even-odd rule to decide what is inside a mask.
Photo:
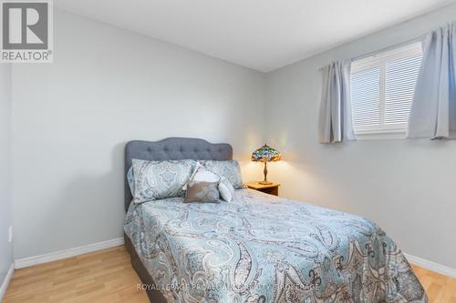
[{"label": "light gray wall behind the bed's headboard", "polygon": [[263,74],[58,9],[54,25],[54,63],[13,68],[15,258],[122,237],[131,139],[244,160],[263,141]]}]

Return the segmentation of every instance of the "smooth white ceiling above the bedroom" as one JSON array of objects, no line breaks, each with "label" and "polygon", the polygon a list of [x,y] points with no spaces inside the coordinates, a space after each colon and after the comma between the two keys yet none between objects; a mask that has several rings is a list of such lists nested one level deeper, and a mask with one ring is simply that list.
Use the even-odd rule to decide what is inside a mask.
[{"label": "smooth white ceiling above the bedroom", "polygon": [[268,72],[453,0],[54,0],[79,15]]}]

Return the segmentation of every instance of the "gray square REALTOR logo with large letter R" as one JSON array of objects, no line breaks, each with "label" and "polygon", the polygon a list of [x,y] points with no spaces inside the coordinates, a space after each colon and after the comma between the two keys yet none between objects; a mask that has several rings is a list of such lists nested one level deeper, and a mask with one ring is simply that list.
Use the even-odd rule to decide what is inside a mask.
[{"label": "gray square REALTOR logo with large letter R", "polygon": [[1,62],[52,62],[52,3],[1,2]]}]

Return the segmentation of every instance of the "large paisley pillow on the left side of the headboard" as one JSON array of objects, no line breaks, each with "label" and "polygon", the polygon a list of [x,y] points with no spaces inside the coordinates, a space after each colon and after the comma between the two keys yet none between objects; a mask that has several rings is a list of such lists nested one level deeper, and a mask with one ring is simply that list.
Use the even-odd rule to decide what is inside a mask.
[{"label": "large paisley pillow on the left side of the headboard", "polygon": [[182,187],[188,182],[194,160],[146,161],[132,160],[134,203],[167,197],[183,196]]}]

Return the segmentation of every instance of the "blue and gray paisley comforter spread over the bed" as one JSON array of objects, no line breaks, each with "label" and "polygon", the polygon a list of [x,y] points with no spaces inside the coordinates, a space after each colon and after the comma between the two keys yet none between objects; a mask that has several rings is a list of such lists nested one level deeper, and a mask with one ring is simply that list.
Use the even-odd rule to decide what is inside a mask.
[{"label": "blue and gray paisley comforter spread over the bed", "polygon": [[169,302],[427,302],[373,222],[250,189],[131,203],[124,229]]}]

